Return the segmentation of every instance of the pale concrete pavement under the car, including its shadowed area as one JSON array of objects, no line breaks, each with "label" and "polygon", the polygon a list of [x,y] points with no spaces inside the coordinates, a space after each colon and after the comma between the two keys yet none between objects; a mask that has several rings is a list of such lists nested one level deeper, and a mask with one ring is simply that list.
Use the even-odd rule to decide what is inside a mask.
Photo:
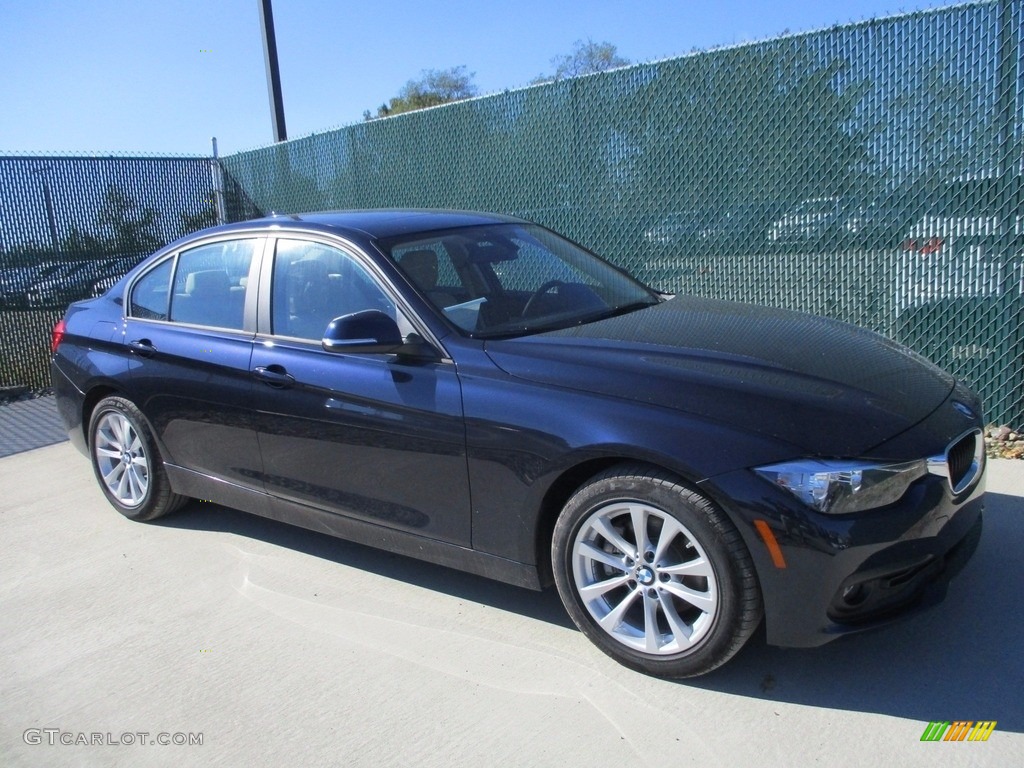
[{"label": "pale concrete pavement under the car, including its shadowed area", "polygon": [[[0,460],[0,764],[1015,764],[1024,462],[988,486],[935,610],[813,650],[756,637],[670,683],[601,654],[553,591],[198,502],[132,523],[69,443],[22,453]],[[935,720],[997,725],[922,742]]]}]

